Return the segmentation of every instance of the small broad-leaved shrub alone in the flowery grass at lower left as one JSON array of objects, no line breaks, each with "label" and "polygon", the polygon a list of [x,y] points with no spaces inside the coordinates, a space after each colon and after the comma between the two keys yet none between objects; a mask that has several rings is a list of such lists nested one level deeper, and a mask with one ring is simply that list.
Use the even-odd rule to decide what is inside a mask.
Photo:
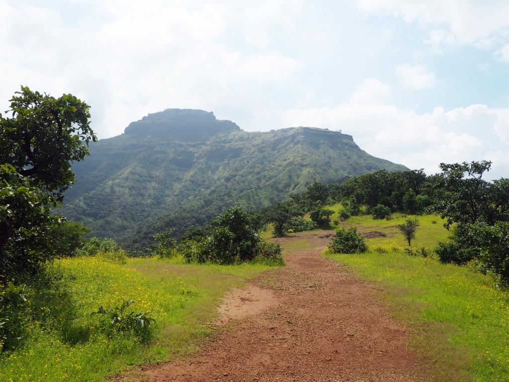
[{"label": "small broad-leaved shrub alone in the flowery grass at lower left", "polygon": [[132,333],[142,342],[148,342],[152,338],[151,326],[154,319],[149,313],[127,312],[127,308],[133,304],[133,300],[124,301],[120,307],[105,309],[102,305],[92,315],[102,316],[103,331],[109,337],[116,334]]}]

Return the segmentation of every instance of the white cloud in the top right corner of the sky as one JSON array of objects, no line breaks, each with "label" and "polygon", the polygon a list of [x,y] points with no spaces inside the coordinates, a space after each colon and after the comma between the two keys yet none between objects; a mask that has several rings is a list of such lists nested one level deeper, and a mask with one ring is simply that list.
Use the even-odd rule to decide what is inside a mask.
[{"label": "white cloud in the top right corner of the sky", "polygon": [[431,28],[426,42],[432,45],[458,42],[491,48],[509,30],[506,0],[357,0],[357,4],[366,12],[388,12]]}]

